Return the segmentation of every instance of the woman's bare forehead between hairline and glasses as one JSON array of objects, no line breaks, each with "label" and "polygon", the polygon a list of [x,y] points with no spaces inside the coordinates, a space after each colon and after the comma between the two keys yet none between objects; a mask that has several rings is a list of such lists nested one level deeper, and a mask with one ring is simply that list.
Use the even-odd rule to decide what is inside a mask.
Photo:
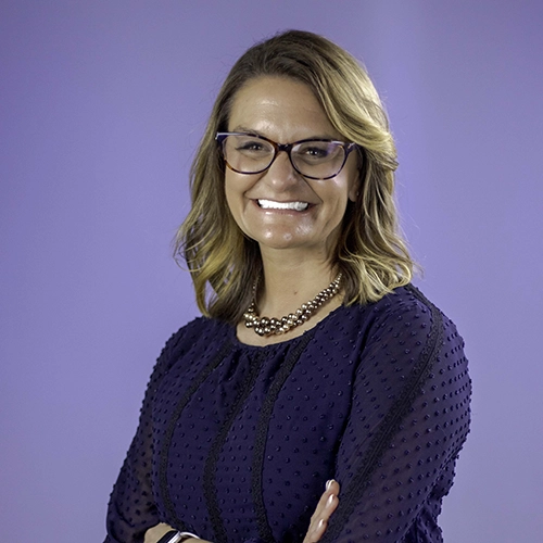
[{"label": "woman's bare forehead between hairline and glasses", "polygon": [[307,85],[269,76],[249,80],[235,94],[228,130],[255,131],[278,142],[340,137]]}]

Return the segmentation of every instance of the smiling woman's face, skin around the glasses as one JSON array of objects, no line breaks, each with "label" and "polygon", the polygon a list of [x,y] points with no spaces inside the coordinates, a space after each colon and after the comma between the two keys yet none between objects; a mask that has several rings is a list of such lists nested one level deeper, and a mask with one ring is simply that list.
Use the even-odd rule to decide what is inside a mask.
[{"label": "smiling woman's face, skin around the glasses", "polygon": [[[235,97],[228,131],[252,132],[278,143],[307,138],[344,140],[305,85],[283,77],[250,80]],[[261,250],[295,249],[329,258],[349,200],[358,190],[357,153],[331,179],[307,179],[286,152],[261,174],[225,173],[228,206],[241,230]],[[296,209],[285,209],[298,203]],[[300,210],[300,211],[299,211]],[[302,256],[302,254],[300,254]]]}]

